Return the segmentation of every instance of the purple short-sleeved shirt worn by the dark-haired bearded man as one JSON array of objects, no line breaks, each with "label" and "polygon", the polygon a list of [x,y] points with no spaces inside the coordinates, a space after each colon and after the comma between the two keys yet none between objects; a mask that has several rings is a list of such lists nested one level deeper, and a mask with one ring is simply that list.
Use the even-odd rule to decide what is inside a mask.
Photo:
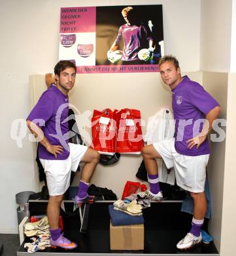
[{"label": "purple short-sleeved shirt worn by the dark-haired bearded man", "polygon": [[[39,101],[31,110],[27,120],[41,127],[50,144],[63,146],[63,152],[55,158],[39,143],[39,158],[46,160],[65,160],[69,156],[68,128],[69,98],[55,86],[42,93]],[[40,120],[39,120],[40,119]],[[66,121],[65,121],[66,120]],[[65,121],[65,122],[64,122]]]}]

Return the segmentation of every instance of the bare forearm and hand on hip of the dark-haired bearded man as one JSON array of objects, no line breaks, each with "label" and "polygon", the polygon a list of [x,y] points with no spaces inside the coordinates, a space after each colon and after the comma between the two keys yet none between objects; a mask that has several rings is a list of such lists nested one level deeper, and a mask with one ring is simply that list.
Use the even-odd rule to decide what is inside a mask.
[{"label": "bare forearm and hand on hip of the dark-haired bearded man", "polygon": [[44,136],[42,129],[38,125],[35,125],[35,123],[33,123],[32,121],[27,120],[26,123],[27,127],[35,136],[35,138],[39,141],[39,143],[41,143],[42,146],[44,146],[44,148],[46,148],[49,153],[53,154],[55,158],[57,158],[58,154],[61,154],[61,152],[63,151],[63,147],[50,144],[48,139],[46,139],[46,137]]}]

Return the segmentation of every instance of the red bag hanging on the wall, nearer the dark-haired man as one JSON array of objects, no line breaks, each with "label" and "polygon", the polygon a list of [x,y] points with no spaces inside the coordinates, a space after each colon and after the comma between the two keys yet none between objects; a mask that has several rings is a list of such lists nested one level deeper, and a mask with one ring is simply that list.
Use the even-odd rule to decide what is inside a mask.
[{"label": "red bag hanging on the wall, nearer the dark-haired man", "polygon": [[93,111],[92,144],[90,147],[101,154],[116,152],[116,112],[117,110]]}]

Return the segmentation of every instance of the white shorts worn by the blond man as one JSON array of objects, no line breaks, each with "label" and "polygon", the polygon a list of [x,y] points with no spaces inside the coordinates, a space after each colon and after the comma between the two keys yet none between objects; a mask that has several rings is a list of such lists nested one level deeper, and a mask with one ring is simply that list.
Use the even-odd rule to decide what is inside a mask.
[{"label": "white shorts worn by the blond man", "polygon": [[206,167],[209,154],[184,156],[175,150],[175,138],[153,144],[161,155],[167,169],[175,168],[177,185],[190,192],[203,192],[205,188]]}]

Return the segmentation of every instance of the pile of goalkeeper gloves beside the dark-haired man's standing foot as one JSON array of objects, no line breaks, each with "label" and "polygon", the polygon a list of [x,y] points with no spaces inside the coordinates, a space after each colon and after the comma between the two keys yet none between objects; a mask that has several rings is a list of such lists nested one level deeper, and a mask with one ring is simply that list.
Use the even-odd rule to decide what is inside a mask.
[{"label": "pile of goalkeeper gloves beside the dark-haired man's standing foot", "polygon": [[51,246],[48,217],[43,217],[35,223],[24,224],[24,234],[31,240],[31,243],[24,244],[28,253],[35,253],[35,251],[44,250]]}]

